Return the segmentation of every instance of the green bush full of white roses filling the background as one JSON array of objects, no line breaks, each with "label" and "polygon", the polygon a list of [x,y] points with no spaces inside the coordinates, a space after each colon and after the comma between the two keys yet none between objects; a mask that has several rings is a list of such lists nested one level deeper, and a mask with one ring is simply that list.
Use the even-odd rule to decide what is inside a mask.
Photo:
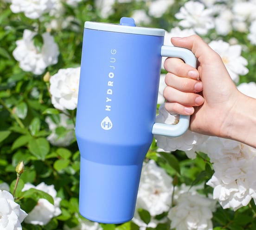
[{"label": "green bush full of white roses filling the background", "polygon": [[[0,1],[0,229],[255,230],[256,149],[191,131],[155,136],[134,218],[102,224],[78,211],[74,135],[85,21],[133,17],[165,29],[166,45],[198,34],[238,90],[256,98],[255,12],[255,0]],[[156,120],[172,124],[165,74],[162,68]]]}]

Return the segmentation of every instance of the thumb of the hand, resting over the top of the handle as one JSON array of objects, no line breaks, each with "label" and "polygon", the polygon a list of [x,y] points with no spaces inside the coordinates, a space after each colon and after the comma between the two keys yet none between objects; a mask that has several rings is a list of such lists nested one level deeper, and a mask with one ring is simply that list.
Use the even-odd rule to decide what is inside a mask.
[{"label": "thumb of the hand, resting over the top of the handle", "polygon": [[198,35],[172,37],[171,42],[174,46],[191,50],[200,63],[209,63],[214,60],[216,61],[216,58],[220,58],[219,55]]}]

